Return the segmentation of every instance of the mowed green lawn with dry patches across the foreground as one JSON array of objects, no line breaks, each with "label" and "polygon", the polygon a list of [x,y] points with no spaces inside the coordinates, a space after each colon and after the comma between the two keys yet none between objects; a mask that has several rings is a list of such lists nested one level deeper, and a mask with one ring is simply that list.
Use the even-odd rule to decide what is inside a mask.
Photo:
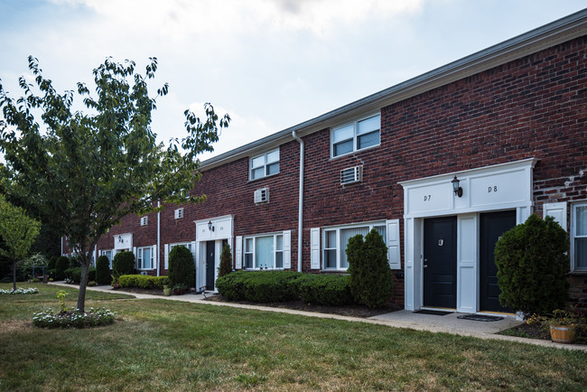
[{"label": "mowed green lawn with dry patches across the foreground", "polygon": [[0,296],[2,390],[587,388],[584,351],[119,294],[88,292],[114,325],[42,330],[36,287]]}]

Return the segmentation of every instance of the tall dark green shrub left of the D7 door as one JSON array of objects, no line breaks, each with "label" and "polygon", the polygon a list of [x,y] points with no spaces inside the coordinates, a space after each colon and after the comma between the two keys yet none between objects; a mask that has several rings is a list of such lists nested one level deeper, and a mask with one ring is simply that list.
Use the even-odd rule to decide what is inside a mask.
[{"label": "tall dark green shrub left of the D7 door", "polygon": [[363,241],[360,234],[349,239],[350,292],[358,303],[378,308],[392,295],[393,278],[387,260],[387,246],[377,230],[372,229]]}]

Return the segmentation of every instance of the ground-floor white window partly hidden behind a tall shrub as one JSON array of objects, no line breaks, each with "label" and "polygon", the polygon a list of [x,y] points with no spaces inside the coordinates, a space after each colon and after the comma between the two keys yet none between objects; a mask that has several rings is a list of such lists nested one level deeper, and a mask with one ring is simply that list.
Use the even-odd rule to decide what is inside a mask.
[{"label": "ground-floor white window partly hidden behind a tall shrub", "polygon": [[323,268],[340,270],[349,268],[349,261],[347,260],[347,244],[349,243],[349,239],[358,234],[365,237],[371,229],[376,229],[381,237],[383,237],[383,240],[386,240],[386,225],[383,222],[324,229],[322,238]]}]

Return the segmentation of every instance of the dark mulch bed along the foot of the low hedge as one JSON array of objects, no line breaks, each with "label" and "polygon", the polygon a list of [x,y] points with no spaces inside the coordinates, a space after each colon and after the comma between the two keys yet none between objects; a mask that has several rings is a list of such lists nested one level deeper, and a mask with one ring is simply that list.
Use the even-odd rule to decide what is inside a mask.
[{"label": "dark mulch bed along the foot of the low hedge", "polygon": [[241,303],[246,305],[269,306],[273,308],[292,309],[303,312],[339,314],[341,316],[368,318],[379,314],[392,313],[402,310],[403,307],[396,303],[386,303],[378,309],[369,309],[367,306],[352,304],[345,306],[326,306],[312,303],[303,303],[302,301],[290,301],[286,303],[254,303],[252,301],[228,301],[220,294],[207,294],[206,301]]}]

